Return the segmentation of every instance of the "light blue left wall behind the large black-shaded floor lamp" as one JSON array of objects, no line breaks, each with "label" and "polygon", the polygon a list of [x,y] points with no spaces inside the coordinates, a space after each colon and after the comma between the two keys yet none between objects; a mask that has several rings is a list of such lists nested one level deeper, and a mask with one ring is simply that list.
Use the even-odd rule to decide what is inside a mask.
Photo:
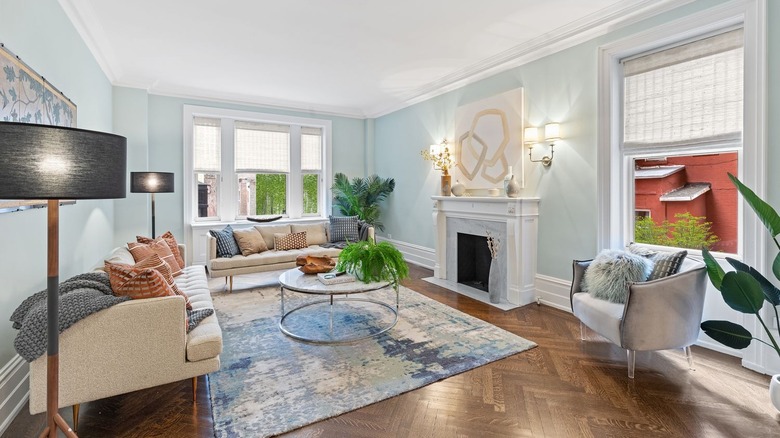
[{"label": "light blue left wall behind the large black-shaded floor lamp", "polygon": [[[111,131],[111,84],[56,0],[0,0],[0,42],[78,106],[78,127]],[[60,209],[60,278],[102,260],[113,241],[113,201]],[[46,288],[46,210],[0,214],[0,366],[14,356],[8,318]]]}]

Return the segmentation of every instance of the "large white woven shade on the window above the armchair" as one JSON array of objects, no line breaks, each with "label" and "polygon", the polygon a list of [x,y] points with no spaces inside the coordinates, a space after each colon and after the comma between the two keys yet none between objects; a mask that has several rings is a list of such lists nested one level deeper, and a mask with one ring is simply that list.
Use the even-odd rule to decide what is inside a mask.
[{"label": "large white woven shade on the window above the armchair", "polygon": [[626,147],[742,137],[743,31],[623,61]]}]

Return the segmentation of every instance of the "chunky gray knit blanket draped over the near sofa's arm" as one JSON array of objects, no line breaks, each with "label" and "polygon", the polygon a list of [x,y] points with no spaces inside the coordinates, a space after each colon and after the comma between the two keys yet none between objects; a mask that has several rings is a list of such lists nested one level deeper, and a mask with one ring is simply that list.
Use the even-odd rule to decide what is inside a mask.
[{"label": "chunky gray knit blanket draped over the near sofa's arm", "polygon": [[[105,272],[79,274],[60,283],[59,332],[103,309],[129,300],[115,297]],[[14,348],[19,356],[32,362],[46,352],[46,291],[27,298],[11,315],[13,327],[19,330]]]}]

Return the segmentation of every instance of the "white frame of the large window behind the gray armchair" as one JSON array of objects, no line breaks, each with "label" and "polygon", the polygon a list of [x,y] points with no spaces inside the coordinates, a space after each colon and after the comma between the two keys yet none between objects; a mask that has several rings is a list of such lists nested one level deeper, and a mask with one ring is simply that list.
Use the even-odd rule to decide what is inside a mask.
[{"label": "white frame of the large window behind the gray armchair", "polygon": [[[597,205],[599,248],[621,248],[630,234],[626,212],[633,211],[633,170],[626,169],[621,150],[622,75],[620,60],[680,41],[711,34],[736,26],[744,28],[743,146],[739,154],[738,177],[758,196],[766,198],[766,0],[735,0],[682,19],[653,27],[599,49]],[[719,149],[719,148],[713,148]],[[733,150],[733,147],[730,148]],[[699,153],[696,149],[695,153]],[[684,153],[684,150],[680,150]],[[703,152],[703,151],[702,151]],[[657,156],[657,153],[654,154]],[[630,166],[628,166],[630,167]],[[737,258],[768,272],[768,236],[755,214],[744,214],[744,202],[738,203]],[[633,222],[630,222],[633,225]],[[745,245],[750,242],[750,245]],[[691,252],[691,251],[689,251]],[[693,258],[700,254],[691,252]],[[723,254],[715,254],[722,260]],[[756,335],[763,330],[755,318],[742,322]],[[756,345],[758,344],[758,345]],[[723,351],[723,350],[721,350]],[[732,352],[733,353],[733,352]],[[768,352],[754,343],[745,350],[743,365],[766,370]]]}]

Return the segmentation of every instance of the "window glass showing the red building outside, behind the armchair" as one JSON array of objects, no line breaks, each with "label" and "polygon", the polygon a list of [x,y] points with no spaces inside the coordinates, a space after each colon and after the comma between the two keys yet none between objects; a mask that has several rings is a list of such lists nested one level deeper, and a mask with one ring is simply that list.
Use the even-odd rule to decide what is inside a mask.
[{"label": "window glass showing the red building outside, behind the armchair", "polygon": [[737,252],[737,153],[634,160],[634,241]]}]

